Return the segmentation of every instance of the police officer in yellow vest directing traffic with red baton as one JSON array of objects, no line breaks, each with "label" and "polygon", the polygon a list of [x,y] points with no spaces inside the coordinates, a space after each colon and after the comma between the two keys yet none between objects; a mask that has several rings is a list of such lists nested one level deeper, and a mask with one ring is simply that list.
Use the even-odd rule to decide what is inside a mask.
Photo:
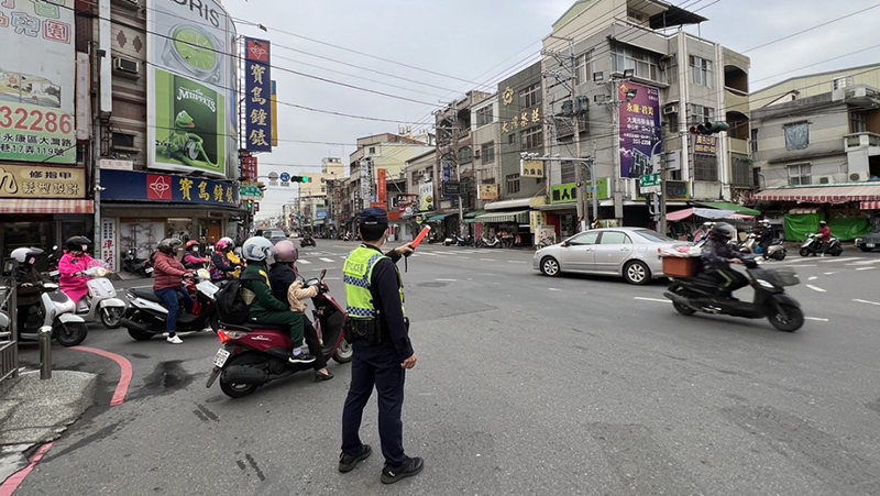
[{"label": "police officer in yellow vest directing traffic with red baton", "polygon": [[413,253],[409,244],[382,254],[388,231],[385,210],[361,212],[363,243],[345,260],[343,268],[348,299],[346,337],[354,349],[351,386],[342,410],[342,453],[339,471],[350,472],[372,453],[359,436],[366,401],[378,393],[378,434],[382,441],[383,484],[393,484],[421,472],[420,458],[404,453],[404,406],[406,370],[416,366],[409,342],[409,321],[404,317],[404,284],[395,263]]}]

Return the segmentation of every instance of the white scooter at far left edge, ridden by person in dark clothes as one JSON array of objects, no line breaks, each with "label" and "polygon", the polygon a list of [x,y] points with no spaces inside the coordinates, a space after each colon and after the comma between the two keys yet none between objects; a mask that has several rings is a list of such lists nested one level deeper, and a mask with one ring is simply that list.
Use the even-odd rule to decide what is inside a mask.
[{"label": "white scooter at far left edge, ridden by person in dark clothes", "polygon": [[[9,319],[9,304],[11,293],[4,288],[2,309],[0,309],[0,331],[11,330]],[[14,290],[14,288],[12,289]],[[40,339],[42,328],[52,329],[52,338],[62,346],[76,346],[86,340],[89,329],[81,317],[74,313],[76,306],[64,293],[58,290],[58,285],[44,283],[40,295],[40,305],[30,308],[19,308],[19,311],[29,312],[24,329],[19,329],[19,339],[36,341]]]}]

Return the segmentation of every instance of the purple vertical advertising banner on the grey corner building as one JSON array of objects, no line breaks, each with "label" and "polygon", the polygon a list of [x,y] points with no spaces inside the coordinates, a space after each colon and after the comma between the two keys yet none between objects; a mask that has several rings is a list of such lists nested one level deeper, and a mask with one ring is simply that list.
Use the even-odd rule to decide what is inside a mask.
[{"label": "purple vertical advertising banner on the grey corner building", "polygon": [[[635,97],[628,98],[636,91]],[[624,82],[620,103],[620,177],[640,177],[653,172],[651,148],[660,137],[660,91],[650,86]],[[656,153],[660,153],[660,146]]]}]

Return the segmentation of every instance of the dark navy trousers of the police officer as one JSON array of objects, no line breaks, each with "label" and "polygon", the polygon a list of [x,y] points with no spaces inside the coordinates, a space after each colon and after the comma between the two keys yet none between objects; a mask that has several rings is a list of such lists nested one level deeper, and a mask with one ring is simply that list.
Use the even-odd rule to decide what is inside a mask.
[{"label": "dark navy trousers of the police officer", "polygon": [[378,393],[378,437],[385,463],[399,466],[404,454],[404,381],[403,360],[391,343],[370,344],[355,341],[351,364],[351,387],[342,410],[342,452],[356,455],[361,450],[361,418],[375,385]]}]

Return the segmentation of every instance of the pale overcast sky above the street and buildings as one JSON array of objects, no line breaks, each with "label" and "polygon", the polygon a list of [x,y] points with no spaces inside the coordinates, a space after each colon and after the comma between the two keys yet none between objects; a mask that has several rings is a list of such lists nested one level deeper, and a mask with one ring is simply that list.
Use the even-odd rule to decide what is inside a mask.
[{"label": "pale overcast sky above the street and buildings", "polygon": [[[260,155],[260,174],[307,175],[320,172],[324,156],[341,157],[348,163],[359,136],[396,133],[398,125],[394,122],[430,122],[431,111],[441,101],[451,101],[481,85],[495,88],[499,79],[539,58],[540,40],[550,33],[551,24],[573,0],[226,0],[223,3],[237,20],[239,34],[268,38],[273,44],[282,142],[272,154]],[[698,27],[689,27],[689,32],[745,52],[751,58],[751,90],[792,76],[880,62],[877,34],[880,8],[795,34],[880,5],[876,0],[674,0],[672,3],[708,19]],[[254,23],[268,31],[249,25]],[[793,36],[758,47],[789,35]],[[846,55],[856,51],[861,52]],[[829,62],[813,65],[823,60]],[[394,122],[312,112],[285,103]],[[261,203],[261,217],[277,213],[295,196],[294,187],[267,191]]]}]

